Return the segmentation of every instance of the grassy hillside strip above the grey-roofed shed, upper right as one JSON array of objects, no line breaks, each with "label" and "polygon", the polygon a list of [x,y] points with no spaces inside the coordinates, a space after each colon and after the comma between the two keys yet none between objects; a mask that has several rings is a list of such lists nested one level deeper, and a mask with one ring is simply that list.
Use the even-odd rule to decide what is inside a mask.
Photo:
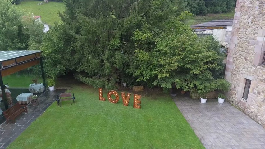
[{"label": "grassy hillside strip above the grey-roofed shed, upper right", "polygon": [[208,14],[205,16],[191,16],[187,19],[185,23],[187,25],[195,25],[211,20],[233,19],[234,15],[235,10],[227,13]]}]

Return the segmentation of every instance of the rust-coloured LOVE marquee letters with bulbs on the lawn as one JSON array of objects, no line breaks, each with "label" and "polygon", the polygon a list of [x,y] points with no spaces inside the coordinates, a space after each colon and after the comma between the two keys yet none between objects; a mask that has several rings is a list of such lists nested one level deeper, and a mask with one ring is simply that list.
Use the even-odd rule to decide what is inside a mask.
[{"label": "rust-coloured LOVE marquee letters with bulbs on the lawn", "polygon": [[[102,88],[98,88],[98,94],[99,94],[99,100],[106,101],[106,98],[102,95]],[[111,95],[115,96],[115,99],[112,99]],[[121,98],[124,106],[128,106],[130,101],[131,94],[127,93],[125,95],[124,92],[121,92]],[[133,101],[133,107],[136,109],[141,109],[141,95],[134,94],[134,101]],[[117,103],[120,100],[120,96],[116,91],[109,91],[107,94],[108,101],[111,103]]]}]

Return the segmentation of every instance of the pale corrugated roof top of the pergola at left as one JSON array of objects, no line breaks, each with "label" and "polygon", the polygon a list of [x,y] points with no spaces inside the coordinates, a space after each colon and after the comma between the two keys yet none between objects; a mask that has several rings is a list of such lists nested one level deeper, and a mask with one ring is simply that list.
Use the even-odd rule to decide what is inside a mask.
[{"label": "pale corrugated roof top of the pergola at left", "polygon": [[0,51],[0,62],[39,52],[41,50]]}]

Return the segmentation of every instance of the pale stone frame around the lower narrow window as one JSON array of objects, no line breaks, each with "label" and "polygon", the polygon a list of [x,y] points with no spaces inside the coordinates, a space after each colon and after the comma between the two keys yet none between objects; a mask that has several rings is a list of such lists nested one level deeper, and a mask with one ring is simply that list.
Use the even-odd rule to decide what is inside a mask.
[{"label": "pale stone frame around the lower narrow window", "polygon": [[[243,93],[244,93],[246,79],[251,80],[251,84],[250,84],[249,94],[248,94],[248,99],[247,100],[243,99]],[[257,82],[254,80],[253,76],[244,74],[243,76],[240,77],[240,84],[239,84],[239,86],[236,89],[237,90],[236,94],[237,94],[238,101],[242,105],[244,105],[244,106],[250,105],[251,102],[252,102],[252,99],[256,98],[255,95],[253,94],[253,90],[256,87],[256,85],[257,85]]]}]

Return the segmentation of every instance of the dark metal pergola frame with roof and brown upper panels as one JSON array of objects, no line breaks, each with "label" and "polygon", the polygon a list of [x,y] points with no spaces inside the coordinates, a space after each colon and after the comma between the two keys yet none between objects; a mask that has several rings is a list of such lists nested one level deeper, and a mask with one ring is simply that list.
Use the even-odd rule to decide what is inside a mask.
[{"label": "dark metal pergola frame with roof and brown upper panels", "polygon": [[[43,62],[40,50],[33,51],[0,51],[2,57],[7,55],[4,59],[1,59],[0,55],[0,87],[2,90],[2,99],[4,101],[5,109],[8,109],[8,102],[5,93],[6,86],[3,83],[2,77],[13,74],[20,70],[24,70],[34,65],[40,64],[44,91],[46,91],[45,76],[43,70]],[[21,53],[19,53],[21,52]],[[13,54],[18,53],[18,54]],[[1,53],[0,53],[1,54]],[[10,58],[9,58],[10,57]]]}]

